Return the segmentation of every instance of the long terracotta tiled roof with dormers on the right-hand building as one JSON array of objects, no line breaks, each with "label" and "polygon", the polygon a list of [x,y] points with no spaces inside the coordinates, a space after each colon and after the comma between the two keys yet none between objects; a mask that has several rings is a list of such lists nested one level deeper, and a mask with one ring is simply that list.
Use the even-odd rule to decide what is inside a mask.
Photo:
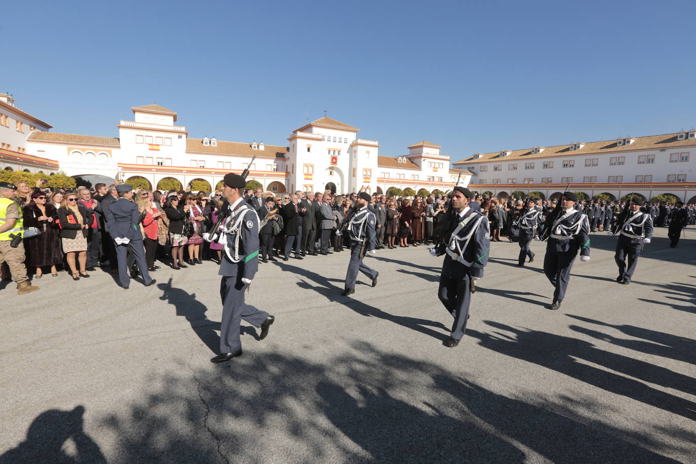
[{"label": "long terracotta tiled roof with dormers on the right-hand building", "polygon": [[[626,137],[629,138],[629,137]],[[633,137],[630,137],[633,138]],[[623,140],[623,139],[622,139]],[[512,150],[512,153],[507,157],[501,157],[500,152],[484,153],[478,159],[467,157],[459,161],[454,161],[453,164],[460,163],[480,163],[481,161],[523,161],[525,159],[562,157],[562,156],[583,156],[589,154],[604,154],[604,153],[620,153],[633,152],[636,150],[663,150],[670,148],[688,147],[696,145],[696,141],[686,139],[677,140],[677,132],[674,134],[663,134],[659,136],[644,136],[635,138],[635,142],[631,145],[617,145],[617,140],[599,141],[586,143],[584,147],[578,150],[570,150],[570,143],[566,145],[556,145],[555,147],[546,147],[543,152],[532,154],[532,149],[525,148],[524,150]]]}]

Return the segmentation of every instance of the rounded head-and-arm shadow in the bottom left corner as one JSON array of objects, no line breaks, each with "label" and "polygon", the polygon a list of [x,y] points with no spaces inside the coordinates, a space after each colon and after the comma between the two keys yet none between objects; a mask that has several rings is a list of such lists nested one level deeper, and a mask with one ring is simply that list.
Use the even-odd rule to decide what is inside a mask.
[{"label": "rounded head-and-arm shadow in the bottom left corner", "polygon": [[[0,456],[0,463],[106,463],[97,443],[83,429],[84,406],[49,409],[36,416],[26,440]],[[72,441],[74,456],[63,450]]]}]

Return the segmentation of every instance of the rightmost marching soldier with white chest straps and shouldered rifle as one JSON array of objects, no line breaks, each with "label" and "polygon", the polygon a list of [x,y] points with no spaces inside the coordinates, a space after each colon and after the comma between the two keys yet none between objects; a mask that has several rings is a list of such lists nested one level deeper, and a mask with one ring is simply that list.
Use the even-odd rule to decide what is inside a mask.
[{"label": "rightmost marching soldier with white chest straps and shouldered rifle", "polygon": [[[652,217],[649,213],[640,211],[642,201],[633,197],[628,204],[628,216],[618,227],[619,241],[616,244],[614,260],[619,266],[619,284],[628,285],[638,265],[638,256],[643,249],[643,243],[650,243],[653,234]],[[611,235],[612,232],[609,232]],[[628,267],[626,267],[628,257]]]}]

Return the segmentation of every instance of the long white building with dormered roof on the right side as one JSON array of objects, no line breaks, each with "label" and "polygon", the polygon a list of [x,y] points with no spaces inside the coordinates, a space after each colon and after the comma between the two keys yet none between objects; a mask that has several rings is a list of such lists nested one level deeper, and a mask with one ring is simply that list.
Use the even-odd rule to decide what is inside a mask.
[{"label": "long white building with dormered roof on the right side", "polygon": [[[694,156],[692,155],[692,152]],[[453,163],[473,173],[470,189],[507,198],[513,191],[560,195],[570,184],[589,198],[670,193],[696,202],[696,129],[612,141],[477,153]]]}]

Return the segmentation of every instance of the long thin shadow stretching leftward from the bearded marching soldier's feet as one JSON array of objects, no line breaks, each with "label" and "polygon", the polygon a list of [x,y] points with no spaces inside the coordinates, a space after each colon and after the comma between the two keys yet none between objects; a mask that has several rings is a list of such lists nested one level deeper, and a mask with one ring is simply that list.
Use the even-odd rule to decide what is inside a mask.
[{"label": "long thin shadow stretching leftward from the bearded marching soldier's feet", "polygon": [[425,335],[430,335],[431,337],[434,337],[436,339],[444,340],[447,338],[443,338],[443,335],[441,333],[438,333],[429,327],[424,327],[430,326],[434,328],[441,328],[443,330],[447,330],[449,333],[449,329],[443,326],[443,324],[441,323],[429,321],[428,319],[419,319],[416,317],[396,316],[395,314],[384,312],[377,307],[367,305],[366,303],[354,300],[353,298],[347,296],[340,296],[340,287],[333,285],[333,283],[331,283],[331,280],[324,277],[323,275],[309,271],[308,269],[292,266],[290,264],[280,263],[279,266],[283,269],[283,271],[289,271],[297,275],[302,275],[303,277],[306,277],[308,280],[311,280],[312,282],[317,284],[312,285],[310,282],[306,280],[297,282],[297,285],[299,287],[303,289],[314,290],[318,294],[326,297],[326,299],[331,301],[332,303],[344,305],[345,307],[348,307],[351,310],[357,312],[358,314],[361,314],[366,317],[379,317],[379,319],[392,321],[393,323],[397,323],[400,326],[416,330],[416,332],[420,332]]}]

